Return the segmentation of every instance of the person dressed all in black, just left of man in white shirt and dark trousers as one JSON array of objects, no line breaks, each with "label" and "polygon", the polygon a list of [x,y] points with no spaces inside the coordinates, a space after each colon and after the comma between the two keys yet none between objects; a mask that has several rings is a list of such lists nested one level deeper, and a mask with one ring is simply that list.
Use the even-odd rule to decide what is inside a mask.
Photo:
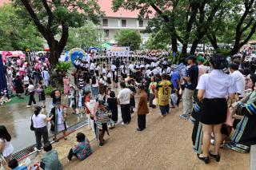
[{"label": "person dressed all in black, just left of man in white shirt and dark trousers", "polygon": [[114,91],[110,92],[110,97],[107,98],[107,105],[108,109],[112,112],[111,119],[114,121],[114,123],[118,122],[118,99],[115,97]]}]

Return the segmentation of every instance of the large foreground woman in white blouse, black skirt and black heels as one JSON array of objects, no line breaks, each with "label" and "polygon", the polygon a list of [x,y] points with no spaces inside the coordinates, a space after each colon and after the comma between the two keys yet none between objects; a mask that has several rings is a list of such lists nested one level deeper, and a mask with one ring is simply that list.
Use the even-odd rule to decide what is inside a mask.
[{"label": "large foreground woman in white blouse, black skirt and black heels", "polygon": [[[203,74],[198,82],[198,100],[202,102],[199,121],[202,123],[202,154],[198,159],[209,163],[209,155],[216,161],[220,160],[219,148],[222,143],[222,124],[226,122],[227,98],[234,98],[236,85],[234,78],[223,73],[228,65],[226,57],[215,54],[210,57],[211,73]],[[214,151],[209,151],[211,133],[214,132]]]}]

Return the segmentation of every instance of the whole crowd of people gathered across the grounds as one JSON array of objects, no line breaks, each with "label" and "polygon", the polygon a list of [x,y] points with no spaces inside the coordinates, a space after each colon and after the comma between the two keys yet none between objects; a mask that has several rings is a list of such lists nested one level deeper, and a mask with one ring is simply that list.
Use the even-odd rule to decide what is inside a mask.
[{"label": "whole crowd of people gathered across the grounds", "polygon": [[[186,62],[178,65],[172,63],[166,52],[130,57],[97,56],[90,62],[77,58],[74,72],[63,78],[64,96],[68,102],[63,103],[62,92],[56,86],[50,94],[53,107],[48,116],[42,113],[42,108],[46,107],[43,89],[49,85],[49,65],[35,61],[33,68],[25,66],[27,71],[24,73],[11,66],[7,67],[6,73],[9,85],[14,82],[11,85],[15,85],[17,97],[22,98],[23,87],[25,94],[30,95],[27,107],[32,102],[36,105],[34,93],[38,93],[39,101],[42,101],[42,106],[35,107],[30,118],[30,128],[36,136],[34,149],[41,151],[43,139],[46,151],[40,164],[42,168],[53,166],[54,169],[62,169],[59,161],[53,162],[58,160],[58,154],[49,143],[47,122],[50,122],[50,131],[54,132],[54,141],[58,142],[59,132],[63,132],[66,140],[69,108],[78,116],[86,114],[88,127],[95,132],[98,146],[102,147],[105,133],[109,134],[109,129],[118,123],[118,105],[122,125],[126,126],[130,124],[137,103],[137,130],[143,131],[150,109],[156,109],[158,105],[160,116],[166,117],[170,108],[178,108],[181,101],[180,118],[189,119],[194,124],[194,151],[199,160],[208,164],[209,156],[220,160],[219,148],[223,144],[238,152],[249,152],[250,145],[256,144],[256,74],[254,64],[247,65],[245,57],[246,53],[228,58],[222,54],[190,55]],[[36,65],[43,66],[38,71]],[[135,102],[137,93],[138,102]],[[229,138],[232,127],[234,134]],[[0,152],[4,153],[6,163],[16,164],[10,159],[11,152],[6,153],[6,149],[10,151],[8,147],[12,147],[10,134],[5,127],[0,128],[0,132],[4,134],[0,136]],[[84,160],[92,154],[90,142],[83,133],[77,134],[77,141],[78,144],[68,153],[68,160],[73,156]],[[209,150],[210,144],[214,144],[213,151]]]}]

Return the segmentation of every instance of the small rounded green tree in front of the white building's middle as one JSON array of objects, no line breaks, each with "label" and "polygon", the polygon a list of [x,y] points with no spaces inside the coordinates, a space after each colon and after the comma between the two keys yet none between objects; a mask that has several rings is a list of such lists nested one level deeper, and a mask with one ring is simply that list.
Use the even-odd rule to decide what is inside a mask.
[{"label": "small rounded green tree in front of the white building's middle", "polygon": [[119,30],[114,38],[119,46],[130,46],[131,50],[139,49],[142,43],[141,35],[137,30]]}]

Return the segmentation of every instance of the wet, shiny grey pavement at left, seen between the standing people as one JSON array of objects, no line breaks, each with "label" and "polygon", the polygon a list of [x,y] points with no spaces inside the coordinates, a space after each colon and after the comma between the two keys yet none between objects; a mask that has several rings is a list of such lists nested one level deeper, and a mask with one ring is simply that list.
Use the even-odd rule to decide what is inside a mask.
[{"label": "wet, shiny grey pavement at left, seen between the standing people", "polygon": [[[118,95],[119,89],[114,88],[116,96]],[[12,136],[11,143],[14,145],[14,152],[21,151],[24,148],[30,147],[35,144],[34,132],[30,130],[30,117],[34,113],[34,107],[26,108],[27,102],[25,99],[24,102],[13,103],[8,105],[0,106],[0,125],[5,125],[8,132]],[[38,96],[35,95],[35,100],[38,103]],[[135,101],[138,100],[138,94],[135,97]],[[46,97],[46,109],[43,109],[43,113],[48,115],[50,109],[52,109],[52,99]],[[62,97],[62,104],[67,104],[66,97]],[[38,105],[40,105],[38,103]],[[135,109],[134,109],[135,111]],[[74,115],[72,110],[68,109],[68,115],[66,117],[67,128],[78,124],[78,122],[86,121],[86,115]],[[122,120],[121,109],[118,107],[118,121]],[[48,130],[50,131],[50,123],[48,124]],[[69,130],[68,130],[69,131]],[[52,133],[49,132],[50,140]],[[62,134],[59,134],[62,136]]]}]

